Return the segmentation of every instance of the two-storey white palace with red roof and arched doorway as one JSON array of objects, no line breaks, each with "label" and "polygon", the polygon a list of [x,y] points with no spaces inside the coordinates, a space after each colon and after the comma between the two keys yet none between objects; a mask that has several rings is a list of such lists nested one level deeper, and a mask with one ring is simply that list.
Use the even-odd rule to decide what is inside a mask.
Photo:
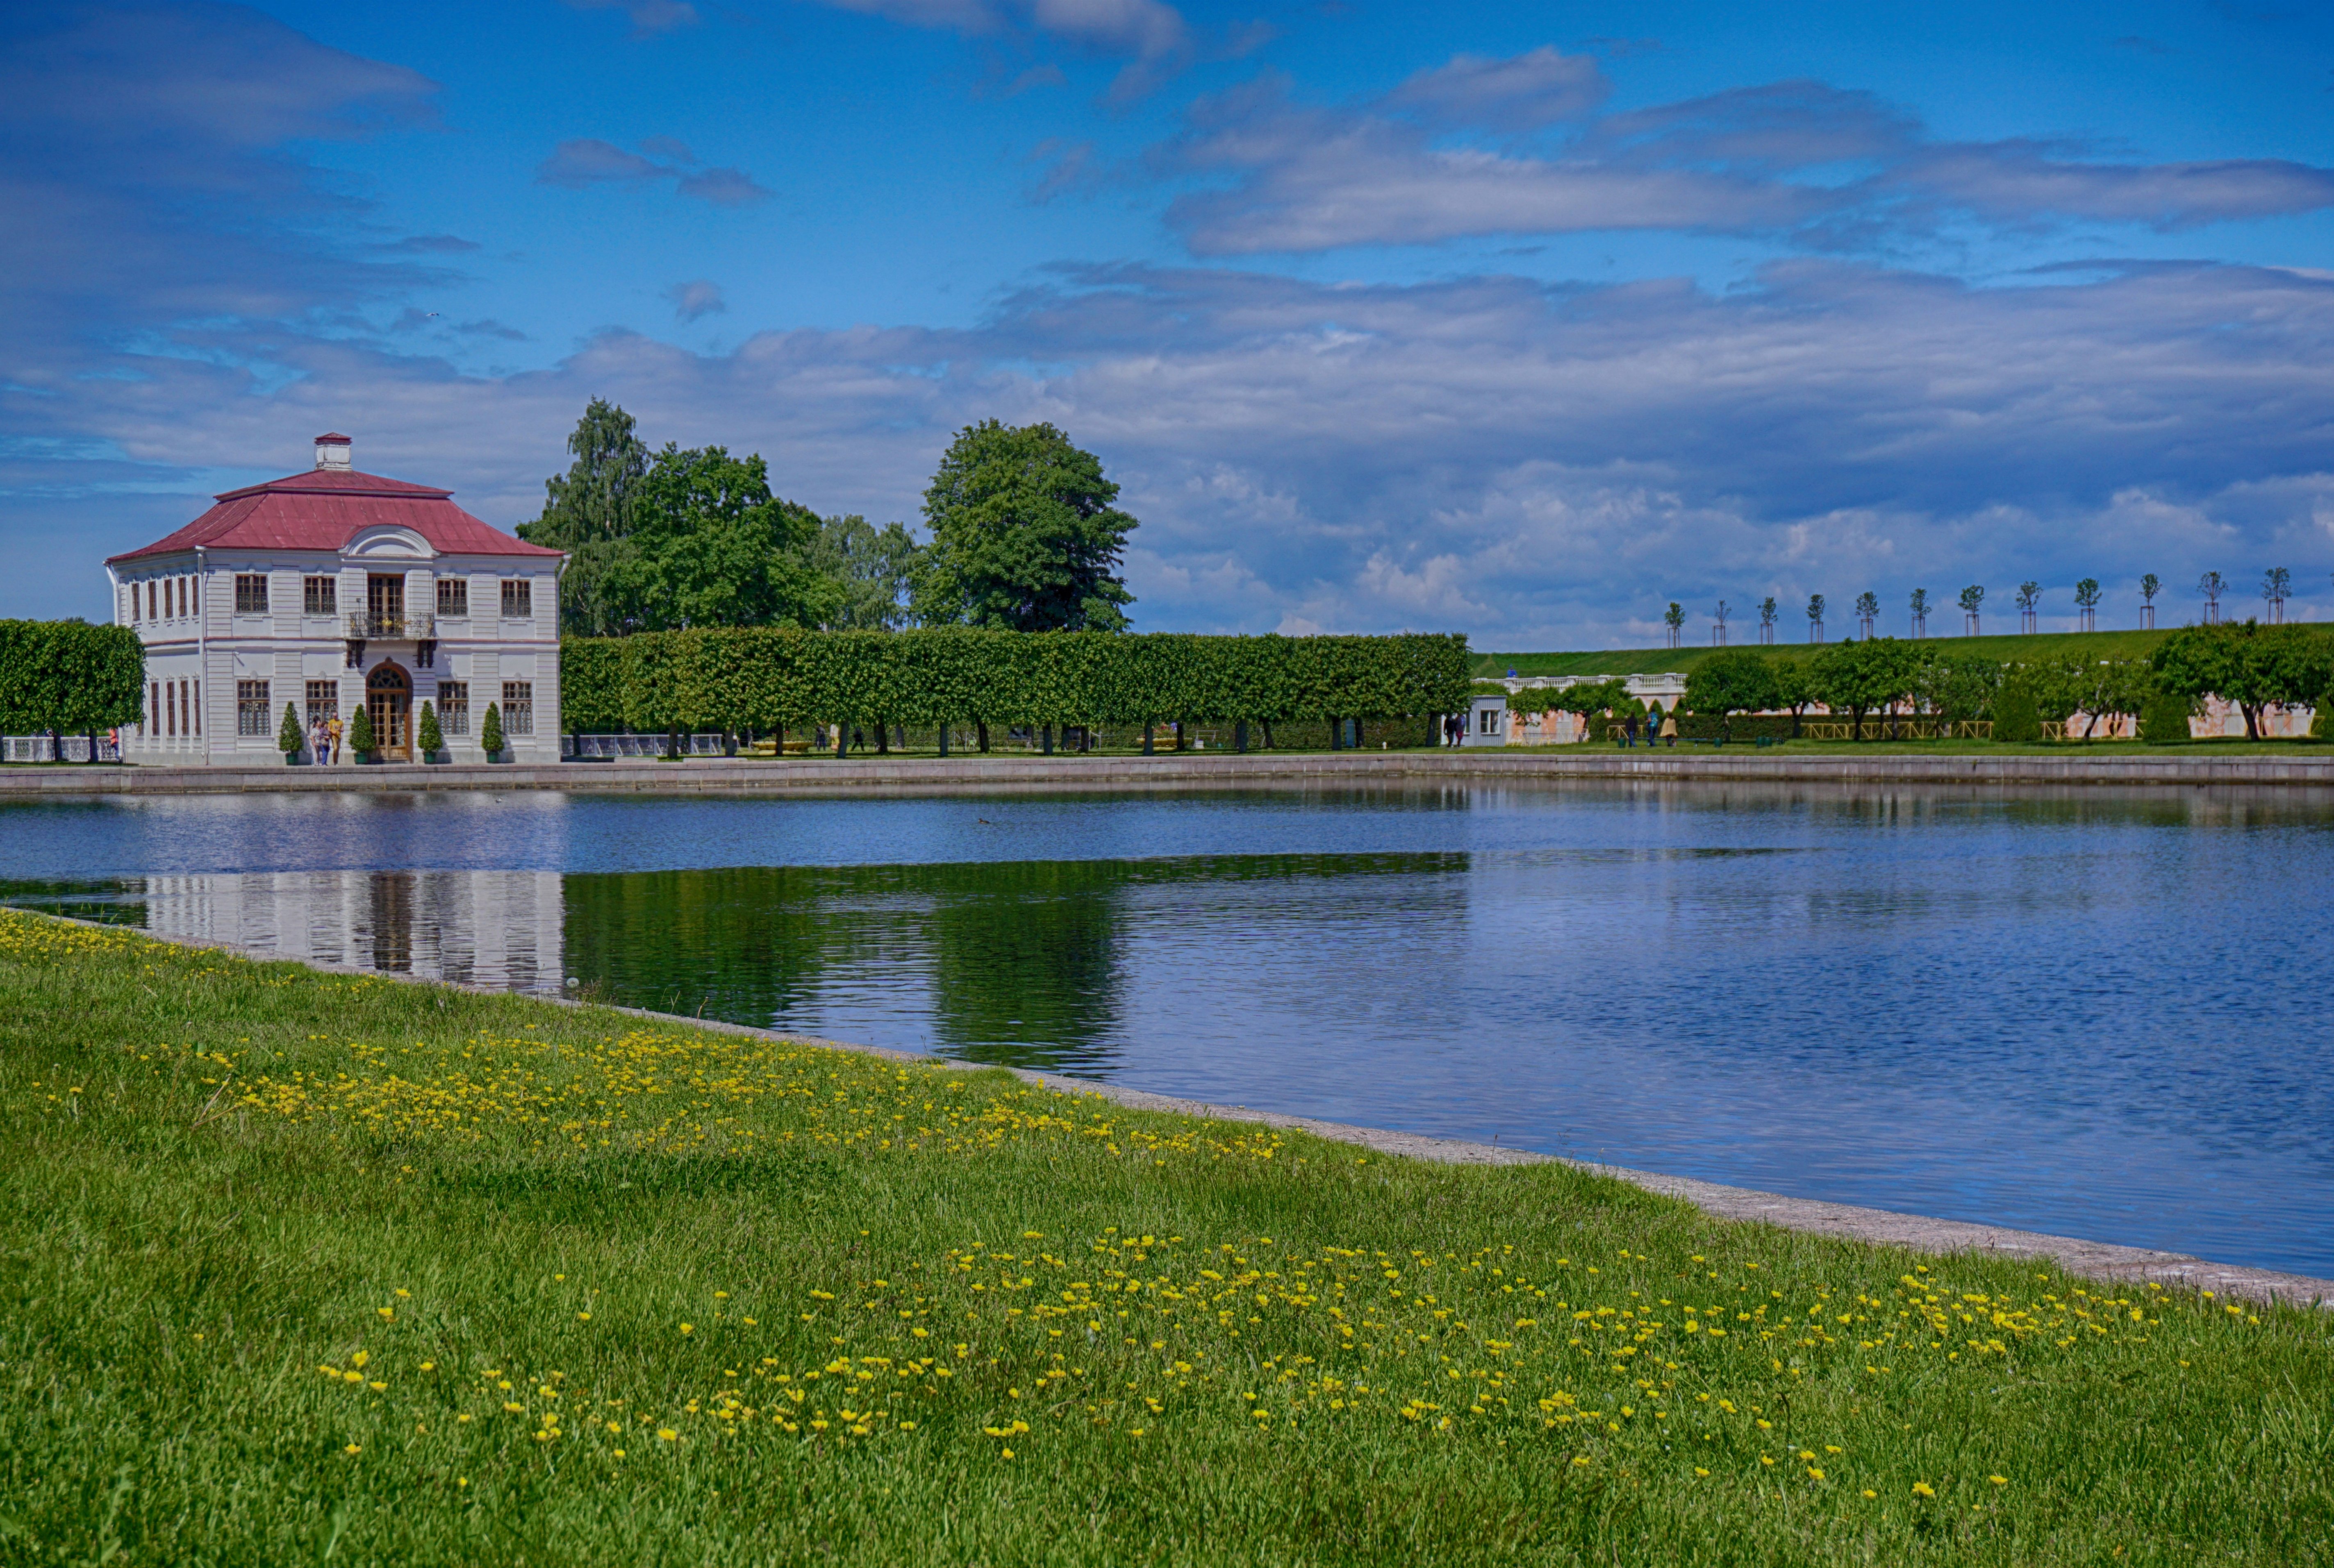
[{"label": "two-storey white palace with red roof and arched doorway", "polygon": [[450,490],[357,474],[348,450],[317,436],[308,474],[229,490],[105,562],[114,621],[147,653],[147,716],[121,733],[121,761],[275,763],[287,702],[303,733],[364,705],[387,761],[418,761],[434,702],[446,751],[469,763],[499,702],[511,756],[558,761],[567,558],[488,527]]}]

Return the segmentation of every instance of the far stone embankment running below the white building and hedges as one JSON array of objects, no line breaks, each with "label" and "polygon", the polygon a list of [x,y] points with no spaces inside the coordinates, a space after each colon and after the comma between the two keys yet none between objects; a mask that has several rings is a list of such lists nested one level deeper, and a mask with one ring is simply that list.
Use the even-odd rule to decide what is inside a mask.
[{"label": "far stone embankment running below the white building and hedges", "polygon": [[383,768],[0,768],[0,798],[187,796],[310,791],[544,789],[572,793],[1015,793],[1118,789],[1288,789],[1337,784],[1951,784],[1951,786],[2320,786],[2327,756],[2203,756],[2187,751],[2084,756],[1790,756],[1727,751],[1249,751],[1186,756],[950,756],[950,758],[693,758],[684,763],[511,763]]}]

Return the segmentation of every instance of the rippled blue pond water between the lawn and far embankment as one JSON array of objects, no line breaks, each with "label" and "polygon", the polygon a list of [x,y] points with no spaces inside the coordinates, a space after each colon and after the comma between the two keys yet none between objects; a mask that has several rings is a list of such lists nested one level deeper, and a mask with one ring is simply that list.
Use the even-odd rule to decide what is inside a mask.
[{"label": "rippled blue pond water between the lawn and far embankment", "polygon": [[0,901],[2334,1276],[2334,800],[0,805]]}]

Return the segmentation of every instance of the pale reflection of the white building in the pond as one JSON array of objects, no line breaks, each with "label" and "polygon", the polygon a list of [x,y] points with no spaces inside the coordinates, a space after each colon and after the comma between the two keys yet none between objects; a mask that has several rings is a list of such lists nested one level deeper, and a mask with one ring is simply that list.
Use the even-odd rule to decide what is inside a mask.
[{"label": "pale reflection of the white building in the pond", "polygon": [[565,903],[551,870],[273,870],[142,877],[145,926],[506,992],[558,992]]}]

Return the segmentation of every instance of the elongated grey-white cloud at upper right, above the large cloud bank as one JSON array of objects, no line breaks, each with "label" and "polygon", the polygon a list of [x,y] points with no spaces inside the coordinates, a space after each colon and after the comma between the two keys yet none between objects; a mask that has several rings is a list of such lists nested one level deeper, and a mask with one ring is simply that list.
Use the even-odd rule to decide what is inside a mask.
[{"label": "elongated grey-white cloud at upper right, above the large cloud bank", "polygon": [[1601,112],[1594,63],[1459,56],[1393,93],[1305,105],[1270,72],[1202,98],[1151,168],[1195,180],[1167,222],[1195,254],[1673,229],[1809,247],[2003,229],[2159,231],[2334,208],[2334,170],[2131,163],[2075,142],[1944,142],[1893,105],[1781,82]]}]

